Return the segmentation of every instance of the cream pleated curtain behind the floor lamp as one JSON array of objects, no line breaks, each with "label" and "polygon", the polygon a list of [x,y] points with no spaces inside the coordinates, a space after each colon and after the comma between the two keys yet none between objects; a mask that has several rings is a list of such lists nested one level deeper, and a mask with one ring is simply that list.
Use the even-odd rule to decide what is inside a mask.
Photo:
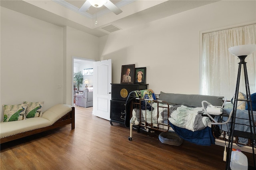
[{"label": "cream pleated curtain behind the floor lamp", "polygon": [[[229,47],[256,44],[256,24],[210,32],[202,35],[201,94],[224,96],[230,100],[236,90],[240,59],[228,52]],[[256,51],[245,59],[250,93],[256,92]],[[246,93],[243,67],[239,91]]]}]

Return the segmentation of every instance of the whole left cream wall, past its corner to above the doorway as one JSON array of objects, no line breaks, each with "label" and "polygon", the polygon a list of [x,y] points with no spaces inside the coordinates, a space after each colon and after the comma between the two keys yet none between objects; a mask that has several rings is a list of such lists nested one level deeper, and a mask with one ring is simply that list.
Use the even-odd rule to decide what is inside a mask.
[{"label": "whole left cream wall, past its corner to above the doorway", "polygon": [[98,60],[99,38],[4,7],[0,12],[0,105],[44,101],[43,111],[72,105],[73,56]]}]

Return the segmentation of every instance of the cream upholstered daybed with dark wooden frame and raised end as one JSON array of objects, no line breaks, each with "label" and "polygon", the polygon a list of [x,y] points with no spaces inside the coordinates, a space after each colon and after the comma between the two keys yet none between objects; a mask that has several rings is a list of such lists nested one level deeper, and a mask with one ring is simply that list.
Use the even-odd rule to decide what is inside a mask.
[{"label": "cream upholstered daybed with dark wooden frame and raised end", "polygon": [[8,142],[71,123],[75,128],[75,108],[58,104],[44,111],[42,117],[32,117],[22,121],[0,123],[0,143]]}]

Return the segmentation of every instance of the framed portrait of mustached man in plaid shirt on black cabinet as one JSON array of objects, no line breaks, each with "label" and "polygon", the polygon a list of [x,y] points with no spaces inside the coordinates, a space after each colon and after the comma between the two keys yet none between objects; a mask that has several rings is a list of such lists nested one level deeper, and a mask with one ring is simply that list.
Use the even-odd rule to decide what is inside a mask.
[{"label": "framed portrait of mustached man in plaid shirt on black cabinet", "polygon": [[[126,73],[130,69],[130,72]],[[121,84],[133,84],[134,83],[134,69],[135,64],[122,65],[121,71]]]}]

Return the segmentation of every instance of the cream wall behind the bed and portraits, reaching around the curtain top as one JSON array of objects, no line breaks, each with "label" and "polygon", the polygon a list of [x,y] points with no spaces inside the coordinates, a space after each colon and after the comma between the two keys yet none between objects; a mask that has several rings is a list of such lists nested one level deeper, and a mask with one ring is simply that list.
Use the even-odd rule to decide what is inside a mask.
[{"label": "cream wall behind the bed and portraits, reaching around the curtain top", "polygon": [[200,93],[200,33],[256,22],[256,1],[220,1],[100,38],[101,59],[112,59],[112,82],[121,66],[146,67],[156,94]]}]

